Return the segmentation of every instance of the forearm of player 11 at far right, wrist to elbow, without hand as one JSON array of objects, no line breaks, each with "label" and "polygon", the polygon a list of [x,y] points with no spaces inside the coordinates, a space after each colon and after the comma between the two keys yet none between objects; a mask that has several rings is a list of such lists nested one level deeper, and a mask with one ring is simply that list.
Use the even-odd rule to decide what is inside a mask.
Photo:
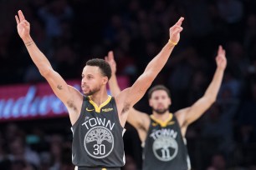
[{"label": "forearm of player 11 at far right, wrist to elbow, without hand", "polygon": [[223,81],[223,73],[224,73],[223,69],[221,68],[216,69],[214,76],[212,78],[212,82],[210,83],[209,87],[207,87],[207,91],[204,94],[204,96],[209,97],[212,100],[212,102],[215,102],[217,98],[218,90]]}]

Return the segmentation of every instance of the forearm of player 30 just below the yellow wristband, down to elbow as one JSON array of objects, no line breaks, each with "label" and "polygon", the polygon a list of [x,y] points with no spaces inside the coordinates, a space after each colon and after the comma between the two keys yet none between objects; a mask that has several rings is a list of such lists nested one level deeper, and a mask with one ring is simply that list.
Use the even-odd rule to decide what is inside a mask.
[{"label": "forearm of player 30 just below the yellow wristband, down to elbow", "polygon": [[164,67],[172,53],[173,48],[174,44],[167,42],[166,45],[161,49],[161,52],[159,52],[156,57],[154,57],[151,62],[149,62],[145,72],[149,72],[149,75],[151,75],[152,79],[154,79],[156,75],[161,71],[162,67]]}]

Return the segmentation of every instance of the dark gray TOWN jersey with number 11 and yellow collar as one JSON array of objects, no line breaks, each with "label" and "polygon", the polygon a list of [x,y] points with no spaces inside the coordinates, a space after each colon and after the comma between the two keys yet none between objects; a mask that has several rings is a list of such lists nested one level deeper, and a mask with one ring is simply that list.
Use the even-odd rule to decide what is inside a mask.
[{"label": "dark gray TOWN jersey with number 11 and yellow collar", "polygon": [[187,170],[190,160],[177,118],[170,113],[162,122],[151,115],[143,148],[143,170]]}]

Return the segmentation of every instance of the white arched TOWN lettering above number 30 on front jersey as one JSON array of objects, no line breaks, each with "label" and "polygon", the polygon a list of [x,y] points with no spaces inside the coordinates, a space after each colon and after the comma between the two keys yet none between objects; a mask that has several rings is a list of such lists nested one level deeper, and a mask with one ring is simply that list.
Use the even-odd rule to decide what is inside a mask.
[{"label": "white arched TOWN lettering above number 30 on front jersey", "polygon": [[86,120],[82,126],[85,126],[87,129],[95,127],[96,125],[104,126],[106,128],[110,128],[112,130],[115,126],[115,122],[110,122],[110,120],[105,120],[105,118],[93,117]]}]

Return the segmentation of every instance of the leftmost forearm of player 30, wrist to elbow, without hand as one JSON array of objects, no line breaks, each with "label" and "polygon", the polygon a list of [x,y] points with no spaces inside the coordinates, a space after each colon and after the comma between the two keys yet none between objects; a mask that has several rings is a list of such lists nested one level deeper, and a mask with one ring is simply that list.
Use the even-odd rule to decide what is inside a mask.
[{"label": "leftmost forearm of player 30, wrist to elbow, without hand", "polygon": [[33,42],[32,37],[23,39],[25,46],[27,47],[28,53],[32,58],[34,64],[38,67],[39,72],[44,76],[52,68],[47,57],[41,52],[36,44]]}]

